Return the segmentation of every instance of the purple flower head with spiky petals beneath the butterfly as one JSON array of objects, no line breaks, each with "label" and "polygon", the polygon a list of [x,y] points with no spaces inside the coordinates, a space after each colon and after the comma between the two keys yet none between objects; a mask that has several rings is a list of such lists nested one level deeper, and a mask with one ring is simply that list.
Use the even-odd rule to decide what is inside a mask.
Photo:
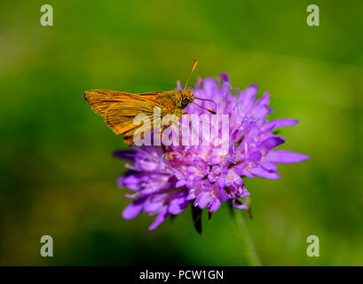
[{"label": "purple flower head with spiky petals beneath the butterfly", "polygon": [[[180,85],[178,84],[180,89]],[[229,114],[230,146],[227,154],[213,155],[209,146],[142,146],[118,151],[117,157],[131,162],[130,170],[119,177],[117,185],[126,186],[133,194],[125,197],[133,201],[122,212],[130,219],[142,211],[156,215],[149,230],[154,230],[168,215],[178,215],[189,203],[200,209],[215,212],[222,201],[232,201],[234,208],[247,209],[249,191],[243,177],[277,179],[276,163],[302,162],[309,159],[304,154],[285,150],[272,150],[285,142],[285,138],[271,131],[295,125],[294,119],[276,119],[269,122],[266,116],[270,95],[256,100],[257,86],[250,85],[239,91],[229,83],[229,76],[198,79],[193,89],[195,97],[212,99],[217,103],[217,114]],[[199,102],[198,102],[199,103]],[[202,101],[209,107],[210,102]],[[189,114],[208,114],[204,109],[189,105]]]}]

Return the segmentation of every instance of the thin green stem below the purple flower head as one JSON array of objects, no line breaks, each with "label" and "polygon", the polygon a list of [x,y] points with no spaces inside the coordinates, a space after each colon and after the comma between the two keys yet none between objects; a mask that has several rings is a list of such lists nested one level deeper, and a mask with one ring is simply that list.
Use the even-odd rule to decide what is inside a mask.
[{"label": "thin green stem below the purple flower head", "polygon": [[242,249],[244,250],[245,255],[248,256],[249,259],[249,265],[260,266],[261,261],[257,256],[255,246],[253,245],[253,241],[249,236],[249,230],[247,228],[244,218],[241,215],[241,211],[233,209],[233,216],[237,233],[242,241]]}]

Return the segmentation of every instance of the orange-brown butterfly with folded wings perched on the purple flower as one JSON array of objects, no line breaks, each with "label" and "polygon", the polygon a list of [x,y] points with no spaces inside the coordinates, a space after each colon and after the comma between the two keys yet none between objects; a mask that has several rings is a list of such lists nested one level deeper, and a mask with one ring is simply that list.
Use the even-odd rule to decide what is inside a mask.
[{"label": "orange-brown butterfly with folded wings perched on the purple flower", "polygon": [[[197,63],[198,61],[194,60],[193,68],[186,80],[184,90],[148,92],[143,94],[131,94],[123,91],[92,90],[85,91],[83,98],[96,114],[104,118],[107,126],[115,134],[123,134],[124,142],[130,145],[136,142],[134,141],[134,134],[141,127],[141,125],[134,124],[134,118],[138,114],[146,114],[149,117],[148,125],[143,125],[145,135],[154,129],[154,121],[157,119],[154,117],[154,107],[160,108],[161,119],[167,114],[175,114],[179,119],[183,114],[187,114],[184,112],[184,108],[190,103],[195,104],[193,102],[194,99],[199,99],[194,98],[192,89],[186,89],[186,85]],[[209,100],[214,103],[210,99],[202,100]],[[195,105],[199,106],[197,104]],[[207,109],[212,114],[216,114],[213,110],[205,107],[202,108]],[[161,131],[166,127],[168,126],[162,126]]]}]

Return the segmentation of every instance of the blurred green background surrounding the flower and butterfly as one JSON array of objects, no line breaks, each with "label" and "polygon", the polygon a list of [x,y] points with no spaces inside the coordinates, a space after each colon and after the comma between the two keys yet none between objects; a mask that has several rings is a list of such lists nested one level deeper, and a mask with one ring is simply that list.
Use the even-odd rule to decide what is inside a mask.
[{"label": "blurred green background surrounding the flower and butterfly", "polygon": [[[307,26],[308,4],[320,27]],[[311,160],[246,180],[262,264],[362,265],[362,13],[360,1],[2,1],[0,264],[249,264],[225,204],[202,237],[189,208],[154,232],[145,213],[122,219],[111,156],[122,138],[82,97],[169,91],[199,59],[192,84],[227,72],[271,92],[271,118],[300,120],[280,148]],[[46,234],[53,257],[39,253]],[[309,235],[320,257],[306,255]]]}]

